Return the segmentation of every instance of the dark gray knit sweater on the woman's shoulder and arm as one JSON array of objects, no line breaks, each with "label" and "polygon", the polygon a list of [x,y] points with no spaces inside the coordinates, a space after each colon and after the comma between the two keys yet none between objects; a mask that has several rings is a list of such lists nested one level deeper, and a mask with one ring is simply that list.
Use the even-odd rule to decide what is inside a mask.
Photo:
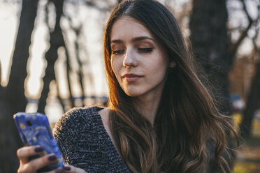
[{"label": "dark gray knit sweater on the woman's shoulder and arm", "polygon": [[131,172],[103,126],[101,109],[75,108],[59,119],[54,134],[64,163],[87,173]]}]

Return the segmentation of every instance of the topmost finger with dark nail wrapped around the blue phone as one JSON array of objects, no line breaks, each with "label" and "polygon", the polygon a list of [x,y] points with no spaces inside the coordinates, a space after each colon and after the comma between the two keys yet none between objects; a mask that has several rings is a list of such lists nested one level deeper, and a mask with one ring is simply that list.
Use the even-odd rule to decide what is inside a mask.
[{"label": "topmost finger with dark nail wrapped around the blue phone", "polygon": [[17,150],[17,157],[22,163],[29,162],[29,156],[43,153],[44,150],[41,146],[24,146]]}]

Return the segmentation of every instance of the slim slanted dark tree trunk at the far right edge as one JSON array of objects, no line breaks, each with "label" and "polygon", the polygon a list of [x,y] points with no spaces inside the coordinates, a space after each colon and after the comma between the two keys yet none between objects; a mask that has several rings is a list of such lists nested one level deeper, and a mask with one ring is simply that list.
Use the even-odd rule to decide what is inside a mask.
[{"label": "slim slanted dark tree trunk at the far right edge", "polygon": [[256,64],[256,73],[252,79],[250,93],[247,96],[247,105],[243,112],[243,119],[240,124],[240,134],[248,138],[252,129],[254,112],[260,107],[260,61]]}]

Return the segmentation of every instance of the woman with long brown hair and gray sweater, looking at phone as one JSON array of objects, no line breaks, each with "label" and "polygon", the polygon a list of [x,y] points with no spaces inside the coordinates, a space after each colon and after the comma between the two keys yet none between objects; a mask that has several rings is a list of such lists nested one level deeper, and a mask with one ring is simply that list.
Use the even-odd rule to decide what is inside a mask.
[{"label": "woman with long brown hair and gray sweater, looking at phone", "polygon": [[[209,140],[218,169],[231,171],[222,157],[225,130],[233,131],[230,119],[217,111],[198,79],[166,7],[153,0],[123,1],[108,19],[103,43],[108,107],[76,108],[59,120],[55,137],[71,166],[55,171],[205,172]],[[18,150],[20,170],[35,172],[50,157],[55,160],[38,158],[41,164],[33,169],[37,159],[27,158],[36,151],[42,150]]]}]

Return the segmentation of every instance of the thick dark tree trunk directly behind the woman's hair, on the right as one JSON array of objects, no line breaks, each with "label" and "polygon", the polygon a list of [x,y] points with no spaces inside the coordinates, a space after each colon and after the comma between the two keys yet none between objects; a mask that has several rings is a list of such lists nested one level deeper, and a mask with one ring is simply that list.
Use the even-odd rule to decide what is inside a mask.
[{"label": "thick dark tree trunk directly behind the woman's hair, on the right", "polygon": [[[193,0],[189,27],[194,54],[212,82],[212,93],[216,93],[214,97],[221,105],[218,108],[224,114],[231,111],[227,19],[225,0]],[[214,149],[211,151],[214,156]],[[213,158],[207,172],[220,172]]]}]

